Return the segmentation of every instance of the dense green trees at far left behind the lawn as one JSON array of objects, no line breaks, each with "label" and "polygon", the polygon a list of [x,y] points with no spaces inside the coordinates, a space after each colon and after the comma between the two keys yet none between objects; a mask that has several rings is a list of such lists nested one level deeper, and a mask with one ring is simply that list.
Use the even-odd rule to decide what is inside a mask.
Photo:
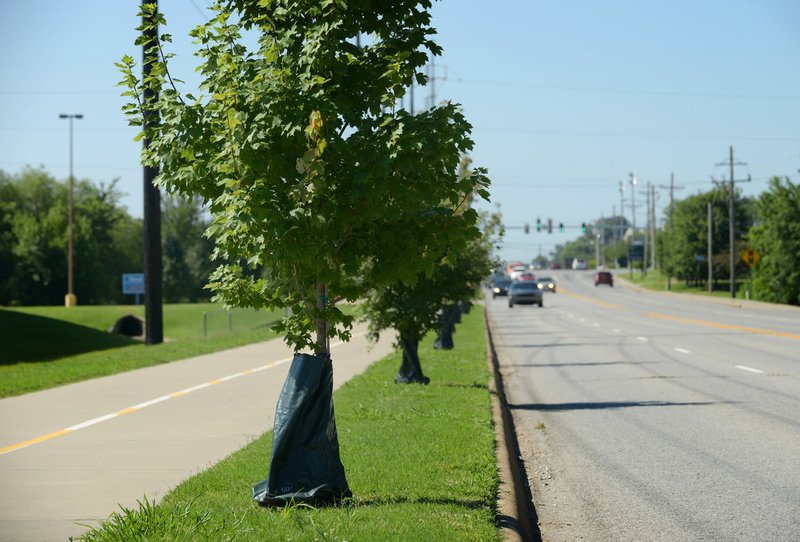
[{"label": "dense green trees at far left behind the lawn", "polygon": [[[0,170],[0,305],[60,305],[67,289],[67,182],[42,169]],[[122,274],[143,272],[142,220],[114,180],[76,179],[74,284],[78,303],[132,303]],[[213,243],[202,201],[162,197],[164,300],[207,300]]]}]

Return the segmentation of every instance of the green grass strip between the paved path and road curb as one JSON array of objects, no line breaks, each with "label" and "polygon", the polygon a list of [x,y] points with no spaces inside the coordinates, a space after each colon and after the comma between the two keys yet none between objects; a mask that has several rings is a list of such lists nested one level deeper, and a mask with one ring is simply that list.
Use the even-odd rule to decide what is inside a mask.
[{"label": "green grass strip between the paved path and road curb", "polygon": [[394,354],[336,392],[352,501],[318,509],[258,506],[251,486],[267,475],[267,433],[158,505],[144,500],[137,510],[122,509],[83,540],[499,540],[480,311],[465,315],[457,329],[454,350],[433,350],[432,337],[420,345],[429,386],[394,384]]}]

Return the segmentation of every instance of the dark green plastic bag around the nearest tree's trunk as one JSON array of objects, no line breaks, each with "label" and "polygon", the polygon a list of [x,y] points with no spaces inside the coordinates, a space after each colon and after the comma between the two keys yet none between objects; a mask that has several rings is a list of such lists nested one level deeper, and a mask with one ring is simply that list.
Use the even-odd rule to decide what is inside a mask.
[{"label": "dark green plastic bag around the nearest tree's trunk", "polygon": [[275,409],[267,479],[253,487],[263,505],[334,504],[352,497],[339,457],[329,354],[295,354]]}]

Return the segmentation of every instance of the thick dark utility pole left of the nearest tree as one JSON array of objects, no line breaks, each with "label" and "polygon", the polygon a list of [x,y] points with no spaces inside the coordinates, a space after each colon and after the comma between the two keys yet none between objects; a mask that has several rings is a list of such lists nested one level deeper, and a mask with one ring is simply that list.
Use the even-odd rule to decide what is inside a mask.
[{"label": "thick dark utility pole left of the nearest tree", "polygon": [[[155,4],[153,16],[158,13],[157,0],[142,0]],[[146,81],[156,62],[155,47],[158,40],[158,28],[152,26],[154,21],[142,21],[145,25],[144,43],[142,44],[142,80]],[[145,132],[158,124],[158,113],[149,108],[158,99],[158,94],[145,86],[144,89],[144,126]],[[144,148],[150,147],[150,139],[143,139]],[[144,313],[145,343],[161,344],[164,342],[164,316],[162,306],[162,273],[161,273],[161,195],[153,184],[158,175],[158,167],[144,166]]]}]

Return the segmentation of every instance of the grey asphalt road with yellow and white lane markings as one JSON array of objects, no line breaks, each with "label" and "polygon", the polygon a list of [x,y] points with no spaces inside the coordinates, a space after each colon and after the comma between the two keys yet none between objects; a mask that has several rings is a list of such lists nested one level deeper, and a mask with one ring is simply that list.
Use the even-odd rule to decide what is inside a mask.
[{"label": "grey asphalt road with yellow and white lane markings", "polygon": [[487,300],[544,540],[800,540],[800,310],[555,274]]}]

